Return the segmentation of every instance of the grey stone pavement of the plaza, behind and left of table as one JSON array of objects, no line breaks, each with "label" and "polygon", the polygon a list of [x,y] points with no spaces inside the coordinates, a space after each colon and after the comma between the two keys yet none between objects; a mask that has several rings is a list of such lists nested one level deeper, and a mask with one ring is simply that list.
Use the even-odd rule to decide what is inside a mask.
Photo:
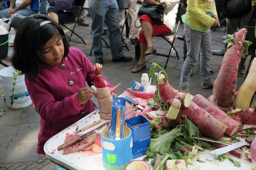
[{"label": "grey stone pavement of the plaza, behind and left of table", "polygon": [[[85,11],[87,14],[87,11]],[[86,22],[91,24],[91,19],[85,17]],[[72,25],[70,25],[71,27]],[[178,29],[178,35],[183,35],[183,25],[180,25]],[[67,32],[67,29],[64,29]],[[75,32],[81,36],[87,45],[70,42],[71,46],[79,48],[82,52],[86,54],[89,60],[94,63],[95,57],[89,56],[92,47],[92,34],[91,27],[82,27],[77,25]],[[69,34],[69,33],[68,33]],[[223,45],[221,37],[225,35],[225,32],[212,32],[212,48],[220,49]],[[80,41],[74,34],[72,36],[77,41]],[[107,35],[103,38],[108,42]],[[173,36],[169,37],[170,40]],[[158,53],[167,53],[170,46],[164,39],[154,38],[154,45]],[[135,48],[129,42],[127,42],[130,51],[124,50],[125,55],[135,57]],[[180,82],[180,72],[183,64],[183,41],[175,39],[174,46],[178,51],[180,59],[170,58],[166,72],[168,74],[168,81],[173,88],[178,89]],[[132,67],[136,64],[133,60],[130,63],[113,63],[111,61],[111,53],[109,48],[104,48],[104,65],[103,65],[103,75],[108,79],[108,81],[116,85],[121,83],[121,86],[116,89],[116,94],[122,94],[126,88],[130,87],[132,81],[139,81],[142,73],[148,73],[152,62],[164,67],[166,58],[156,55],[146,56],[147,67],[140,73],[131,73]],[[93,54],[92,54],[93,55]],[[211,58],[211,68],[214,71],[212,75],[212,80],[214,81],[220,65],[222,62],[222,56],[213,55]],[[247,60],[248,62],[248,60]],[[2,69],[4,67],[0,67]],[[204,97],[209,97],[212,95],[212,89],[202,89],[201,88],[201,77],[199,74],[198,63],[193,69],[194,75],[190,79],[190,92],[193,95],[201,94]],[[243,77],[237,78],[237,89],[240,88]],[[0,86],[0,89],[3,89]],[[1,90],[2,91],[2,90]],[[0,91],[0,92],[1,92]],[[95,98],[92,99],[96,105],[98,104]],[[39,131],[39,115],[33,110],[31,106],[23,108],[20,110],[12,110],[6,106],[4,97],[0,97],[0,109],[4,109],[6,114],[0,117],[0,170],[52,170],[56,169],[55,165],[46,158],[45,155],[36,154],[37,146],[37,135]]]}]

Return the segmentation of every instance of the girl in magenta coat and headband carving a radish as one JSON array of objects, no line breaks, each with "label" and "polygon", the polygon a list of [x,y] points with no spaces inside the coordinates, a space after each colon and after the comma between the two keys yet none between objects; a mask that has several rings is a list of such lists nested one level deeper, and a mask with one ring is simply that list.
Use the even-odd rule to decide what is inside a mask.
[{"label": "girl in magenta coat and headband carving a radish", "polygon": [[[85,81],[93,85],[93,65],[79,49],[69,47],[58,23],[41,14],[20,22],[11,62],[25,74],[41,117],[36,152],[45,154],[49,138],[95,110],[90,100],[95,92],[85,85]],[[108,87],[113,86],[108,83]]]}]

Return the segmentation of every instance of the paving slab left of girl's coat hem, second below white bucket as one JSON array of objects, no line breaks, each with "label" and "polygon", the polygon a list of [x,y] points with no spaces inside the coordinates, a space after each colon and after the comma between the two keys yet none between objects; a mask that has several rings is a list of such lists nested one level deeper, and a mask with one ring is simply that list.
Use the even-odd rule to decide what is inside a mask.
[{"label": "paving slab left of girl's coat hem, second below white bucket", "polygon": [[12,142],[37,140],[40,124],[17,125],[12,135]]}]

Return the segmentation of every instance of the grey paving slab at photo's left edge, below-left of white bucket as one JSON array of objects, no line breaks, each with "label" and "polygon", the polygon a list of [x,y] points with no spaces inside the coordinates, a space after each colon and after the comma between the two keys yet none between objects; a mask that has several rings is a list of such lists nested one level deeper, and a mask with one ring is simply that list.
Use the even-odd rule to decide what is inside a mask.
[{"label": "grey paving slab at photo's left edge, below-left of white bucket", "polygon": [[[3,105],[3,103],[6,103],[6,102],[4,100],[3,101],[0,100],[0,108],[1,108],[0,111],[2,111],[1,105]],[[19,110],[5,110],[5,115],[1,116],[0,126],[16,124],[19,114],[20,114]]]}]

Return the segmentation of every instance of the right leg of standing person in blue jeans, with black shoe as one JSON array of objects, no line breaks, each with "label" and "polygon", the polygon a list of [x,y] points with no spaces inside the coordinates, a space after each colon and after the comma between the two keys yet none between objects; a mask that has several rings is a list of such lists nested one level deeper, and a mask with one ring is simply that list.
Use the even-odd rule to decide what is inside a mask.
[{"label": "right leg of standing person in blue jeans, with black shoe", "polygon": [[[124,57],[122,37],[119,28],[119,9],[116,0],[109,0],[110,8],[106,13],[105,23],[108,27],[108,39],[112,61],[131,61],[131,57]],[[126,60],[127,59],[127,60]]]}]

